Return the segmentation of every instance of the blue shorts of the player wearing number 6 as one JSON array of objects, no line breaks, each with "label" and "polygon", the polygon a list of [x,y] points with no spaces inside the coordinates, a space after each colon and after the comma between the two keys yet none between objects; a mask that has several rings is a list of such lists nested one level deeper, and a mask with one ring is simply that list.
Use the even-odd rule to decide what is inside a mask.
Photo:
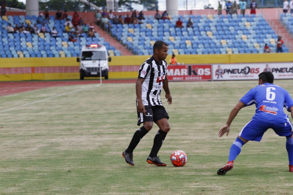
[{"label": "blue shorts of the player wearing number 6", "polygon": [[273,129],[279,136],[291,137],[293,126],[290,121],[284,124],[284,126],[278,126],[268,122],[251,120],[243,127],[239,136],[250,141],[260,141],[268,129]]}]

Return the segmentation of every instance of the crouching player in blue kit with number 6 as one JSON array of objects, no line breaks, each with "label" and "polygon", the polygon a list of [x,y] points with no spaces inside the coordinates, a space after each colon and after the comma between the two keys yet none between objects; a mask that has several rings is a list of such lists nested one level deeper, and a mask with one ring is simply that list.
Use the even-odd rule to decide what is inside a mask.
[{"label": "crouching player in blue kit with number 6", "polygon": [[293,126],[284,107],[291,112],[293,119],[293,100],[289,93],[278,85],[274,85],[274,75],[262,72],[258,75],[258,86],[249,90],[232,109],[226,124],[219,130],[219,137],[227,136],[230,125],[241,108],[255,104],[255,115],[240,131],[229,153],[228,163],[220,168],[218,175],[225,175],[233,168],[234,160],[240,154],[242,146],[251,141],[260,141],[268,129],[273,129],[279,136],[286,136],[286,149],[289,157],[289,172],[293,172]]}]

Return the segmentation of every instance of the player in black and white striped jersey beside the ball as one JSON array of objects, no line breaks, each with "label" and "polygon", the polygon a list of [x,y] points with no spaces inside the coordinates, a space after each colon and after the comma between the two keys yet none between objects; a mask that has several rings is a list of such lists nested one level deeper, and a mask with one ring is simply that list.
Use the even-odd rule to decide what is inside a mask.
[{"label": "player in black and white striped jersey beside the ball", "polygon": [[134,133],[128,148],[122,153],[126,163],[132,166],[134,166],[133,150],[143,136],[151,130],[153,122],[159,126],[159,131],[154,138],[154,144],[147,158],[147,163],[166,166],[166,163],[163,163],[157,155],[170,130],[169,116],[160,99],[161,90],[163,89],[166,93],[165,97],[168,104],[172,103],[167,77],[167,55],[168,44],[163,41],[156,41],[153,48],[153,56],[144,61],[138,71],[135,87],[137,96],[137,125],[139,126],[143,123],[143,126]]}]

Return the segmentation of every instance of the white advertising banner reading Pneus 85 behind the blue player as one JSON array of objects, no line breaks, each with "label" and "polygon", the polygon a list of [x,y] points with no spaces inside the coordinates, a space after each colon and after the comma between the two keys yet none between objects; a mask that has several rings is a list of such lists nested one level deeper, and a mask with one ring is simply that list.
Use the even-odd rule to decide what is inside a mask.
[{"label": "white advertising banner reading Pneus 85 behind the blue player", "polygon": [[213,80],[257,80],[263,71],[272,72],[275,79],[293,78],[293,62],[213,64]]}]

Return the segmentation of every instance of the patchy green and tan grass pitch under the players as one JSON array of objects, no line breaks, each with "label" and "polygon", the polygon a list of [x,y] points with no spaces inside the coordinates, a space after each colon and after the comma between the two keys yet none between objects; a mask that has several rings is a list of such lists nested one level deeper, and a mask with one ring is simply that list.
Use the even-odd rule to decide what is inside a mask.
[{"label": "patchy green and tan grass pitch under the players", "polygon": [[[228,137],[219,138],[217,132],[238,100],[257,84],[170,82],[173,103],[162,100],[171,131],[159,151],[166,167],[146,162],[158,131],[155,124],[134,150],[134,167],[121,156],[138,129],[134,83],[2,96],[0,194],[292,194],[285,138],[271,129],[260,143],[242,147],[233,170],[216,174],[255,106],[239,112]],[[275,84],[293,95],[292,80]],[[82,88],[87,89],[17,107]],[[17,108],[1,112],[12,107]],[[184,167],[171,165],[174,150],[187,153]]]}]

